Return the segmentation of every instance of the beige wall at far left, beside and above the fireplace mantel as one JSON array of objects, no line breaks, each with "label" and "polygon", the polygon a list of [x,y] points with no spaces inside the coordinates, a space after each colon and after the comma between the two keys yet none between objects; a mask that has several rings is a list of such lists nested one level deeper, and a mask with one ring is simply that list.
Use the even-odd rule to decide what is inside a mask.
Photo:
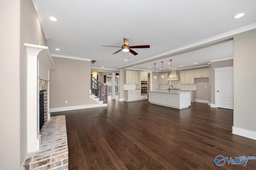
[{"label": "beige wall at far left, beside and above the fireplace mantel", "polygon": [[[1,168],[18,170],[27,154],[27,54],[24,43],[46,39],[32,0],[0,1]],[[8,17],[6,17],[8,16]],[[11,72],[10,72],[11,69]],[[8,74],[6,74],[8,72]],[[4,163],[3,163],[4,162]]]}]

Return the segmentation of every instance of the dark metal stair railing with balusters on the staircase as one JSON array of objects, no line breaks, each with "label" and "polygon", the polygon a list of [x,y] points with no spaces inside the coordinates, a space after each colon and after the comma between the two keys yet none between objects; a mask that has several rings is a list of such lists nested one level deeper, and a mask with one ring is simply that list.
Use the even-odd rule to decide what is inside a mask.
[{"label": "dark metal stair railing with balusters on the staircase", "polygon": [[104,104],[108,103],[108,86],[105,86],[93,76],[91,76],[91,93],[99,98],[99,101],[103,101]]}]

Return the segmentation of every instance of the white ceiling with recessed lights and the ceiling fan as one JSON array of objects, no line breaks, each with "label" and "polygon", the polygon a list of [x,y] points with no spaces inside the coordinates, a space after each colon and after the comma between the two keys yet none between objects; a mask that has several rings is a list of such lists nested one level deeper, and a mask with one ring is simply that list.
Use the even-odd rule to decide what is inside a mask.
[{"label": "white ceiling with recessed lights and the ceiling fan", "polygon": [[[233,56],[232,40],[216,44],[218,39],[256,28],[256,0],[33,2],[50,52],[95,60],[94,68],[154,70],[156,63],[156,70],[160,71],[160,62],[168,70],[170,59],[172,69],[180,69],[180,65],[203,65]],[[240,12],[246,15],[233,19]],[[50,21],[50,16],[58,21]],[[138,53],[134,56],[122,51],[112,55],[120,48],[101,46],[122,46],[124,37],[130,39],[130,46],[150,45],[150,48],[133,49]],[[212,42],[215,45],[209,46]],[[203,47],[198,49],[200,46]],[[180,51],[181,54],[175,55]]]}]

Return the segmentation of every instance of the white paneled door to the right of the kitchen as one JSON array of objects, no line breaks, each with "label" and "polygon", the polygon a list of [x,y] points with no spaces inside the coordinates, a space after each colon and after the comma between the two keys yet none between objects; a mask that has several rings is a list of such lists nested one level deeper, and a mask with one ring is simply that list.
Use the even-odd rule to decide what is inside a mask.
[{"label": "white paneled door to the right of the kitchen", "polygon": [[216,107],[234,109],[234,73],[233,67],[215,69],[216,71]]}]

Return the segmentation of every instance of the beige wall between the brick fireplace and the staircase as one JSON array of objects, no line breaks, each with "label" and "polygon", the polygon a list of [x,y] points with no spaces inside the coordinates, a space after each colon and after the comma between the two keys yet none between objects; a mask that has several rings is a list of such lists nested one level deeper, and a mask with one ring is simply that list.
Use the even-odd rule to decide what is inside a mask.
[{"label": "beige wall between the brick fireplace and the staircase", "polygon": [[89,97],[90,61],[60,57],[53,61],[56,69],[50,70],[50,108],[97,104]]}]

